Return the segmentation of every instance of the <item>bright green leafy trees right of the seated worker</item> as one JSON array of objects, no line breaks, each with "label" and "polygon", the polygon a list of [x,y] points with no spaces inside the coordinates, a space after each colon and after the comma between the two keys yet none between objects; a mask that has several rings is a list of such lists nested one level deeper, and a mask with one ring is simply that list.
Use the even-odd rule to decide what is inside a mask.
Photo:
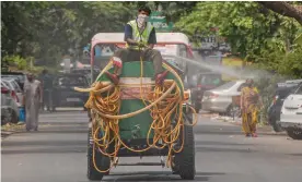
[{"label": "bright green leafy trees right of the seated worker", "polygon": [[281,74],[301,76],[301,25],[264,9],[257,2],[198,2],[177,23],[193,37],[218,27],[233,52]]}]

